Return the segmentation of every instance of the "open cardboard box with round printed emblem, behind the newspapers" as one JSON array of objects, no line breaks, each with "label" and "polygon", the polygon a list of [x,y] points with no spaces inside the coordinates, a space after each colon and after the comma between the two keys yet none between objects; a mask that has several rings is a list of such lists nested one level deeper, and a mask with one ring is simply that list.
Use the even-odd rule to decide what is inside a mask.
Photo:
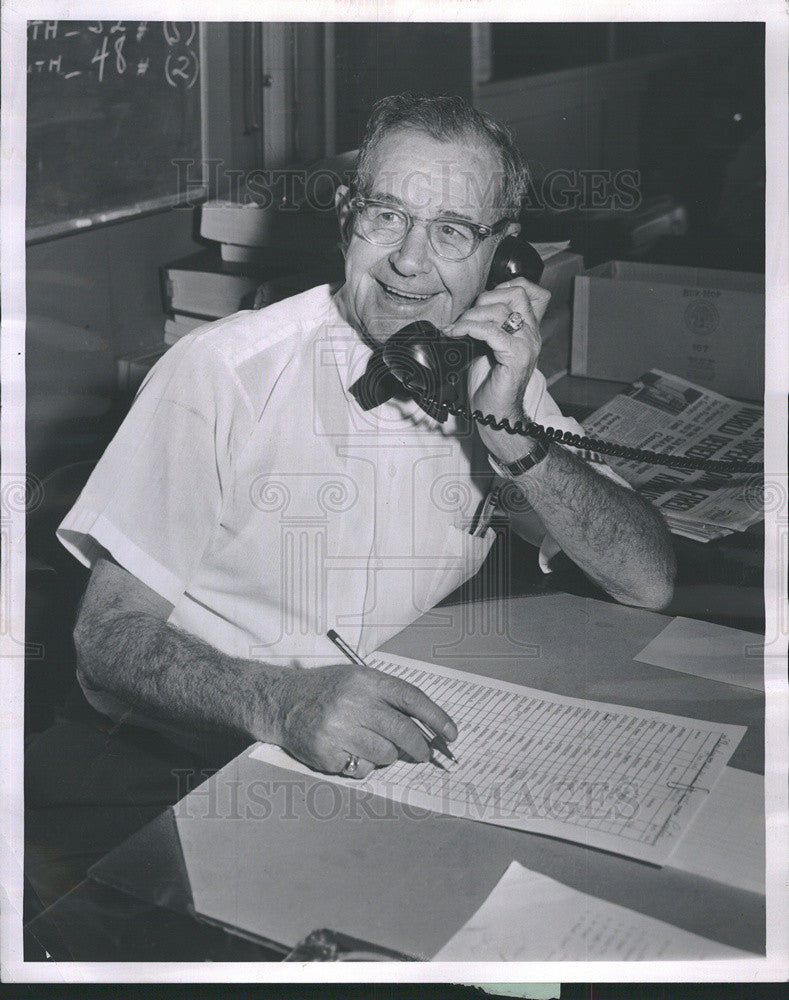
[{"label": "open cardboard box with round printed emblem, behind the newspapers", "polygon": [[570,372],[660,368],[724,396],[764,395],[764,275],[609,261],[575,278]]}]

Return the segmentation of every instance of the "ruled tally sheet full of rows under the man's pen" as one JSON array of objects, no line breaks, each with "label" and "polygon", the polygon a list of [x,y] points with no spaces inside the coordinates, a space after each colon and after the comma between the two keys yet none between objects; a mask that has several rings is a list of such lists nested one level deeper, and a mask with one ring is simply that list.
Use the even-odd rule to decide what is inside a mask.
[{"label": "ruled tally sheet full of rows under the man's pen", "polygon": [[[567,698],[406,657],[371,667],[421,688],[458,727],[458,763],[397,761],[353,783],[411,808],[577,841],[663,864],[745,727]],[[277,747],[259,760],[315,774]]]}]

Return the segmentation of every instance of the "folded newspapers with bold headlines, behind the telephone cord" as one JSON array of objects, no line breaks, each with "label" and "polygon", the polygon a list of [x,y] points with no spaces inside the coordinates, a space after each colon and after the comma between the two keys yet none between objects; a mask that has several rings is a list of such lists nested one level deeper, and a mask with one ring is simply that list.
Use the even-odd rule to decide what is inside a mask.
[{"label": "folded newspapers with bold headlines, behind the telephone cord", "polygon": [[[726,462],[761,462],[764,410],[653,369],[584,421],[589,437],[650,451]],[[669,528],[699,542],[744,531],[764,516],[762,477],[606,461],[663,513]]]}]

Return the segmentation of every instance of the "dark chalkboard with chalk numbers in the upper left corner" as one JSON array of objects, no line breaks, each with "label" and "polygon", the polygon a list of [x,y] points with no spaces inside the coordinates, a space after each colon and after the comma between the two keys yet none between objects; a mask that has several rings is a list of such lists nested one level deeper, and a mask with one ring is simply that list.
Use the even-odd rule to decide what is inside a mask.
[{"label": "dark chalkboard with chalk numbers in the upper left corner", "polygon": [[28,21],[28,241],[199,195],[201,77],[194,21]]}]

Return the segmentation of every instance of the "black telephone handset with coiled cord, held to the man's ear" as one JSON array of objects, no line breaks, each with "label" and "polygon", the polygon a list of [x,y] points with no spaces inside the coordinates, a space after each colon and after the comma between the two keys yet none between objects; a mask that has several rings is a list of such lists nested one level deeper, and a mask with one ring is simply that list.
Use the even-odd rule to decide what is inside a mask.
[{"label": "black telephone handset with coiled cord, held to the man's ear", "polygon": [[[542,270],[542,258],[534,247],[520,237],[508,236],[496,248],[486,288],[495,288],[504,281],[519,277],[539,284]],[[506,418],[498,420],[492,414],[472,411],[461,402],[463,376],[474,358],[485,350],[485,345],[480,341],[470,337],[443,337],[432,323],[417,320],[398,330],[386,341],[381,350],[381,364],[388,376],[394,376],[391,380],[393,384],[400,383],[426,413],[440,422],[445,421],[451,413],[496,430],[503,429],[508,434],[533,437],[546,444],[556,441],[583,451],[613,455],[650,465],[729,474],[758,475],[762,472],[762,466],[755,462],[722,462],[669,455],[543,427],[533,420],[518,420],[515,424],[510,424]]]}]

